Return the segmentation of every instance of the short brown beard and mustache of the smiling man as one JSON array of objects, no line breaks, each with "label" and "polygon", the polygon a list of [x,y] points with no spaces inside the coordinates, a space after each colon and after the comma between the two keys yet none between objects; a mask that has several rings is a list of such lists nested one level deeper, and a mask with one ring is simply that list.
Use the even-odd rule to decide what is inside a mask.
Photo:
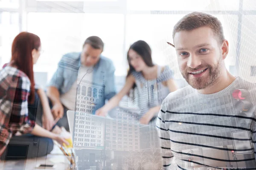
[{"label": "short brown beard and mustache of the smiling man", "polygon": [[[218,60],[218,63],[214,65],[214,67],[212,67],[211,65],[202,65],[193,70],[186,69],[186,71],[184,71],[181,74],[184,77],[184,79],[186,79],[186,82],[188,82],[189,85],[192,86],[192,88],[201,90],[201,89],[207,88],[209,85],[211,85],[212,83],[218,80],[219,75],[221,73],[221,61],[222,59],[220,57],[220,59]],[[201,68],[207,68],[207,70],[209,71],[208,77],[192,77],[189,75],[189,72],[192,72],[194,70],[198,70]]]}]

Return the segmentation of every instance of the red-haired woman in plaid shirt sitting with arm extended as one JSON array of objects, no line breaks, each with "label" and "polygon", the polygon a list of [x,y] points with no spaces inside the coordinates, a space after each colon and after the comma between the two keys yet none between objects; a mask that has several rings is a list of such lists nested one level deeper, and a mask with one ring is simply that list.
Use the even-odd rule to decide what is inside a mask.
[{"label": "red-haired woman in plaid shirt sitting with arm extended", "polygon": [[68,145],[63,137],[45,130],[28,116],[28,104],[35,101],[33,64],[37,62],[40,51],[40,38],[21,32],[12,43],[11,62],[0,71],[0,156],[12,136],[25,133]]}]

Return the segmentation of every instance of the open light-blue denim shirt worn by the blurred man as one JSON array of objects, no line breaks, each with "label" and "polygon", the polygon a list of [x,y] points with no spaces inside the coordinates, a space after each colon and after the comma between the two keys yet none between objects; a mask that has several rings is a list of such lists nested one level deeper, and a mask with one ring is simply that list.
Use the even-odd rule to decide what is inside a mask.
[{"label": "open light-blue denim shirt worn by the blurred man", "polygon": [[[58,63],[58,68],[47,86],[58,88],[60,95],[67,93],[77,80],[81,65],[80,58],[81,53],[65,54]],[[116,94],[114,72],[115,68],[111,59],[103,56],[100,56],[99,62],[93,66],[93,83],[102,84],[102,76],[105,77],[105,94],[102,96],[104,102],[97,108],[105,105],[105,99],[109,100]]]}]

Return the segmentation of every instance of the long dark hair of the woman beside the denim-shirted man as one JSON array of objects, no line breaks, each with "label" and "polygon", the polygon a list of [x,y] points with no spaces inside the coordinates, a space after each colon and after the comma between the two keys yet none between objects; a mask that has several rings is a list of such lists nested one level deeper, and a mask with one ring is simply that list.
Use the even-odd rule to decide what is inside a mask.
[{"label": "long dark hair of the woman beside the denim-shirted man", "polygon": [[[151,57],[151,48],[147,42],[145,42],[143,40],[136,41],[130,46],[128,51],[130,51],[131,49],[134,50],[137,54],[139,54],[142,57],[143,61],[145,62],[145,64],[148,67],[154,66],[154,64],[152,62],[152,57]],[[133,71],[135,71],[134,67],[129,62],[128,53],[127,53],[127,59],[128,59],[128,63],[129,63],[129,70],[128,70],[126,78],[128,76],[130,76]],[[132,89],[134,89],[135,87],[136,87],[136,84],[134,83]]]}]

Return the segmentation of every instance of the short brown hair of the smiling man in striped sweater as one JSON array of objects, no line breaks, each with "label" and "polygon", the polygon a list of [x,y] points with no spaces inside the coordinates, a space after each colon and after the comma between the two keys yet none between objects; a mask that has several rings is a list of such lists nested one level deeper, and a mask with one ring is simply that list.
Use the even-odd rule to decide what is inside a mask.
[{"label": "short brown hair of the smiling man in striped sweater", "polygon": [[192,12],[181,18],[173,28],[172,38],[179,31],[192,31],[193,29],[208,26],[212,28],[217,41],[221,44],[224,41],[224,33],[221,22],[218,18],[203,12]]}]

